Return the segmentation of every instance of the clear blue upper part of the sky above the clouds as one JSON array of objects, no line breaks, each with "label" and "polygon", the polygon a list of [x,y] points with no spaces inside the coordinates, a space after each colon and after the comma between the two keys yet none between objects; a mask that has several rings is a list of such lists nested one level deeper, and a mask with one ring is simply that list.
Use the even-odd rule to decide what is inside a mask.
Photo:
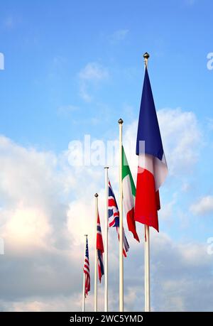
[{"label": "clear blue upper part of the sky above the clouds", "polygon": [[[89,123],[80,126],[82,116],[101,120],[99,107],[107,110],[106,130],[119,116],[129,120],[124,104],[133,106],[136,117],[145,50],[151,53],[156,107],[193,110],[204,121],[212,115],[212,73],[206,68],[211,8],[211,1],[185,0],[1,4],[2,134],[60,151],[90,131]],[[118,31],[126,31],[124,39]],[[110,78],[94,101],[84,103],[77,75],[90,62],[107,67]],[[80,108],[72,112],[76,125],[57,114],[67,105]],[[102,125],[95,126],[95,136]]]}]

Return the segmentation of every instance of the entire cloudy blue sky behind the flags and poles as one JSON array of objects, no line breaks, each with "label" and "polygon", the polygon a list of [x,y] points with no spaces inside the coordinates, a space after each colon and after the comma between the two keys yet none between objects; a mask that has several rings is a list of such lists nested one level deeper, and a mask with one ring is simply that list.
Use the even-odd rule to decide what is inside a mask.
[{"label": "entire cloudy blue sky behind the flags and poles", "polygon": [[[160,188],[160,232],[151,229],[151,310],[212,311],[213,71],[212,38],[206,36],[212,34],[212,4],[181,0],[174,9],[163,1],[164,12],[160,4],[153,11],[142,2],[126,1],[121,9],[118,1],[113,13],[112,3],[97,1],[65,1],[65,7],[54,1],[42,9],[25,1],[1,4],[0,311],[81,311],[85,233],[92,280],[86,310],[93,310],[94,193],[104,235],[106,163],[117,201],[119,195],[117,153],[113,162],[106,154],[107,142],[118,140],[119,118],[136,181],[146,50],[169,170]],[[141,17],[142,9],[147,16]],[[148,23],[152,27],[144,33]],[[88,135],[92,160],[72,165],[74,142],[81,155]],[[130,245],[124,259],[126,311],[144,307],[144,232],[136,226],[140,244],[124,218]],[[104,277],[99,310],[103,293]],[[111,228],[109,311],[118,310],[119,243]]]}]

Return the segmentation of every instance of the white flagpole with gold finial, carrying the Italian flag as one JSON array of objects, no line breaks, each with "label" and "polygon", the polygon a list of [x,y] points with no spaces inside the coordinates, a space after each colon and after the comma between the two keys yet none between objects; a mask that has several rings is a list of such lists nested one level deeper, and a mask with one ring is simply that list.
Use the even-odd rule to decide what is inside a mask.
[{"label": "white flagpole with gold finial, carrying the Italian flag", "polygon": [[119,119],[119,311],[124,311],[124,256],[123,256],[123,187],[122,187],[122,124]]}]

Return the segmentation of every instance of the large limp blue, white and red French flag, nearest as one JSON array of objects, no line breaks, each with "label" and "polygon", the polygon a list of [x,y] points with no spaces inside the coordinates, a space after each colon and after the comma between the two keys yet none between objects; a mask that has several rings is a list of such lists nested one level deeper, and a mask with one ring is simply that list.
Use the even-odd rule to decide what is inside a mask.
[{"label": "large limp blue, white and red French flag, nearest", "polygon": [[138,176],[135,220],[154,227],[158,232],[159,188],[168,173],[163,144],[155,111],[153,93],[145,70],[136,143]]}]

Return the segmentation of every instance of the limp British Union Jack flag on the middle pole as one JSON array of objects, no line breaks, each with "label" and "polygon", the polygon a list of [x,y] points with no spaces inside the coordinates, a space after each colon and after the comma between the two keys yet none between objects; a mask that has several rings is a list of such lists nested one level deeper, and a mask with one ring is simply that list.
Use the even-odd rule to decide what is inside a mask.
[{"label": "limp British Union Jack flag on the middle pole", "polygon": [[[108,192],[108,217],[109,217],[109,227],[116,227],[116,232],[119,237],[119,209],[110,182],[109,182],[109,192]],[[129,251],[129,243],[126,239],[126,235],[124,232],[123,254],[125,257],[127,251]]]}]

